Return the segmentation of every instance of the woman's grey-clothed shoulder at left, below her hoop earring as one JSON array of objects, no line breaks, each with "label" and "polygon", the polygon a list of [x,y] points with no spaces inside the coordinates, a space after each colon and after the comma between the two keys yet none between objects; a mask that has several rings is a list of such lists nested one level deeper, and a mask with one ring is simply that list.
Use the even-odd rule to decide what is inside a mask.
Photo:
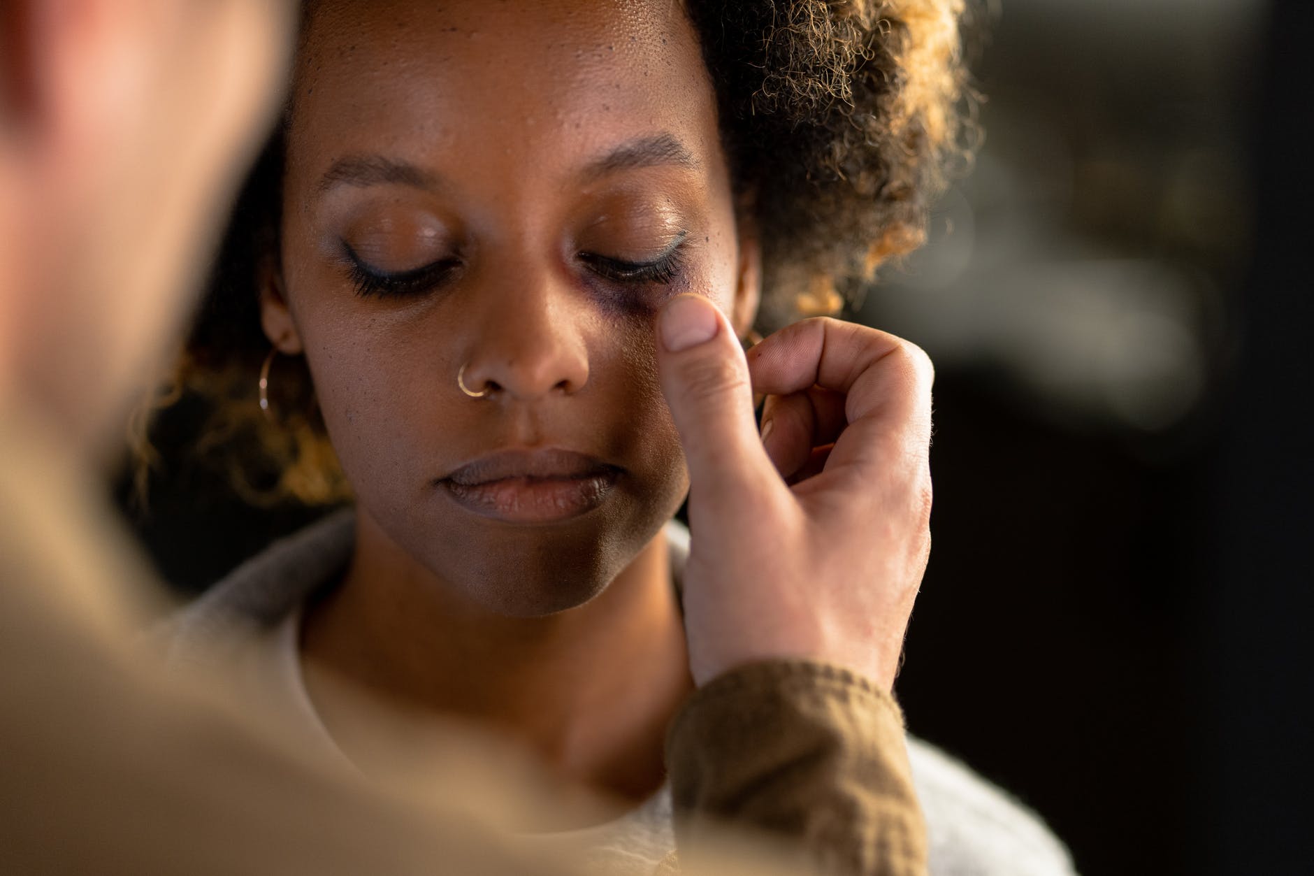
[{"label": "woman's grey-clothed shoulder at left, below her hoop earring", "polygon": [[276,626],[351,559],[355,512],[344,508],[246,560],[151,630],[170,664],[213,663],[222,650]]}]

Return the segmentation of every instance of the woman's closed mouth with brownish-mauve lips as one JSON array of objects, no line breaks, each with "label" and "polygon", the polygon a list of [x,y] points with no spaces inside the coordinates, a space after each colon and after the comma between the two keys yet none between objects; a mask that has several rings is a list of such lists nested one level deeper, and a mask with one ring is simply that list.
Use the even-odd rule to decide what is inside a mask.
[{"label": "woman's closed mouth with brownish-mauve lips", "polygon": [[555,523],[602,505],[623,470],[572,450],[503,450],[439,479],[459,505],[507,523]]}]

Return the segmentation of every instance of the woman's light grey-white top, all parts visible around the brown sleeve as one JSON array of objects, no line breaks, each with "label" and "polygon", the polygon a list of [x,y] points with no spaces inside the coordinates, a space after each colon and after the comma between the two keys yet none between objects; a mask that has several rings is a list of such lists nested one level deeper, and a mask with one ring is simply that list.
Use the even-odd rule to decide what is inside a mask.
[{"label": "woman's light grey-white top, all parts visible around the brown sleeve", "polygon": [[[180,612],[160,631],[168,660],[218,666],[261,693],[325,756],[350,763],[306,693],[301,617],[306,600],[336,580],[353,546],[350,509],[276,542]],[[668,526],[678,580],[689,530]],[[1067,850],[1035,813],[940,748],[908,737],[913,783],[926,817],[932,876],[1070,876]],[[579,843],[607,873],[652,873],[674,847],[670,787],[625,815],[585,830],[523,835]]]}]

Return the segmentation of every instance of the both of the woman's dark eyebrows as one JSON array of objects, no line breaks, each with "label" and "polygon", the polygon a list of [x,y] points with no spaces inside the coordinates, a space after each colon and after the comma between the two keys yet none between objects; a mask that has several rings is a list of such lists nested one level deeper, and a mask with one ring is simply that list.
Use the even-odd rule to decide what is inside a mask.
[{"label": "both of the woman's dark eyebrows", "polygon": [[[674,134],[661,133],[622,143],[602,158],[589,162],[582,176],[597,179],[619,171],[666,164],[690,170],[700,167],[694,154]],[[440,187],[440,178],[418,164],[386,155],[347,155],[335,160],[319,179],[319,192],[323,193],[339,185],[355,188],[406,185],[434,191]]]}]

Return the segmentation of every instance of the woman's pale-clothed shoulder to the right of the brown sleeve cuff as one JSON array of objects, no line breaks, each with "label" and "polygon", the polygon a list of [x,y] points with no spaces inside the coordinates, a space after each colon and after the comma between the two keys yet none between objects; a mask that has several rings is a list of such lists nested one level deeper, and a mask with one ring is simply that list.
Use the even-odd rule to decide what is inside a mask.
[{"label": "woman's pale-clothed shoulder to the right of the brown sleeve cuff", "polygon": [[928,742],[908,737],[934,876],[1066,876],[1067,848],[1039,815]]}]

